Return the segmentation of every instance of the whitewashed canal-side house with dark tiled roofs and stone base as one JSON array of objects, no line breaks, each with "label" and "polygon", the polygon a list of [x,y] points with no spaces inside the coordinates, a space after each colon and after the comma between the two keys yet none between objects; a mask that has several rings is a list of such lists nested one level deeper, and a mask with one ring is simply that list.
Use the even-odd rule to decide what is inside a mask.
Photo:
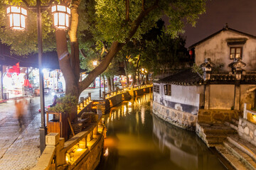
[{"label": "whitewashed canal-side house with dark tiled roofs and stone base", "polygon": [[225,26],[190,48],[198,73],[185,70],[154,82],[154,113],[181,128],[196,121],[238,119],[243,103],[255,106],[256,37]]}]

